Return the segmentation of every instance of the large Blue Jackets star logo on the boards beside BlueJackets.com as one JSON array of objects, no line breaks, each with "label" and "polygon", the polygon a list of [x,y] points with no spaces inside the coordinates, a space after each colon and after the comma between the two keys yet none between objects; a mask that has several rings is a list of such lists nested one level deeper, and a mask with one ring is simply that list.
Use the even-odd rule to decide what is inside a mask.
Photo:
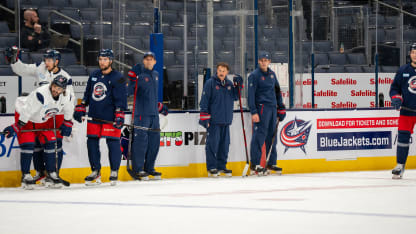
[{"label": "large Blue Jackets star logo on the boards beside BlueJackets.com", "polygon": [[305,145],[308,143],[312,127],[310,122],[295,117],[283,126],[280,131],[280,141],[286,146],[285,153],[289,148],[300,148],[306,154]]}]

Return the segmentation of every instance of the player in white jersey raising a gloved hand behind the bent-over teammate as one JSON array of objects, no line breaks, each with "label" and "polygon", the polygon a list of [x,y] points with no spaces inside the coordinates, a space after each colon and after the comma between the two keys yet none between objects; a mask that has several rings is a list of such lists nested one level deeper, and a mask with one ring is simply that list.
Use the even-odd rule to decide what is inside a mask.
[{"label": "player in white jersey raising a gloved hand behind the bent-over teammate", "polygon": [[[39,64],[25,64],[20,58],[20,50],[16,46],[8,48],[6,50],[6,56],[10,62],[10,66],[14,73],[24,78],[26,77],[35,77],[36,83],[38,86],[48,85],[52,80],[57,76],[64,76],[68,80],[66,93],[72,96],[72,100],[75,103],[75,94],[72,87],[72,79],[70,75],[65,72],[62,68],[59,67],[61,61],[61,54],[57,50],[47,50],[43,55],[43,62]],[[25,98],[19,97],[18,100],[24,102]],[[55,116],[56,125],[60,126],[64,121],[64,116],[62,113]],[[57,145],[58,145],[58,167],[61,167],[63,151],[62,151],[62,135],[57,132]],[[43,178],[45,178],[45,162],[43,161],[43,149],[40,147],[39,142],[35,143],[35,153],[33,155],[33,164],[36,170],[36,175],[34,179],[36,181],[41,181],[43,183]]]}]

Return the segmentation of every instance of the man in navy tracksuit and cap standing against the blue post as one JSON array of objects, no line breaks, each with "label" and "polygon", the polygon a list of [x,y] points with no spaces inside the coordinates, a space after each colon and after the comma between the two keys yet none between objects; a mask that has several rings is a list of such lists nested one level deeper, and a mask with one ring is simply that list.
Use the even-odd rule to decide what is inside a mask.
[{"label": "man in navy tracksuit and cap standing against the blue post", "polygon": [[[156,58],[153,52],[143,56],[143,66],[136,64],[128,73],[129,93],[134,93],[134,125],[159,128],[159,113],[168,115],[168,108],[158,102],[159,73],[153,69]],[[162,173],[155,171],[159,152],[160,134],[134,129],[131,147],[134,179],[147,180],[151,175],[160,179]]]}]

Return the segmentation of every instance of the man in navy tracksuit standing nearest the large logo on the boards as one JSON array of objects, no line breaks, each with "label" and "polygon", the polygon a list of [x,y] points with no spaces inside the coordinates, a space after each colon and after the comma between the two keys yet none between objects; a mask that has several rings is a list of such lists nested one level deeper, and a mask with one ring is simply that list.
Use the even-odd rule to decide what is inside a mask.
[{"label": "man in navy tracksuit standing nearest the large logo on the boards", "polygon": [[276,141],[272,144],[273,132],[276,128],[277,118],[282,121],[286,116],[285,105],[280,93],[276,74],[269,68],[270,54],[261,52],[258,68],[248,77],[248,106],[253,126],[251,139],[251,173],[262,175],[264,168],[260,166],[263,144],[266,143],[266,152],[270,147],[272,152],[267,170],[281,173],[282,169],[276,166]]}]

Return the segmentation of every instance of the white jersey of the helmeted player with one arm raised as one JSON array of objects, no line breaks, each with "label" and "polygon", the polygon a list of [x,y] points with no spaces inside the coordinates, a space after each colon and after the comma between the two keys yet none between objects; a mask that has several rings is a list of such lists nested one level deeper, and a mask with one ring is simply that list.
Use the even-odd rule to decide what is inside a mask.
[{"label": "white jersey of the helmeted player with one arm raised", "polygon": [[[71,76],[62,68],[59,68],[59,71],[57,73],[53,73],[48,71],[44,62],[40,64],[26,64],[22,63],[20,59],[17,60],[16,63],[11,64],[10,66],[12,67],[14,73],[16,73],[19,76],[22,76],[23,78],[25,76],[36,77],[36,82],[39,87],[43,85],[48,86],[47,84],[50,84],[56,76],[62,75],[68,79],[68,86],[66,87],[67,92],[71,94],[73,97],[75,97],[74,88],[72,87]],[[73,98],[73,101],[75,101],[75,98]]]}]

